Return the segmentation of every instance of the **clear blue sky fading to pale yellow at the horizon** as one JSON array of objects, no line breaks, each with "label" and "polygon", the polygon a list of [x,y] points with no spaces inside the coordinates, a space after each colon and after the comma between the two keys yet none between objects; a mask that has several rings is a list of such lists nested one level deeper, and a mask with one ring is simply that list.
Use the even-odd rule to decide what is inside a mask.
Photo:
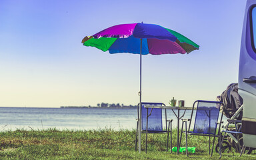
[{"label": "clear blue sky fading to pale yellow at the horizon", "polygon": [[0,1],[0,107],[139,103],[139,55],[85,47],[83,37],[125,23],[153,23],[200,47],[144,55],[142,101],[215,101],[238,81],[246,1]]}]

